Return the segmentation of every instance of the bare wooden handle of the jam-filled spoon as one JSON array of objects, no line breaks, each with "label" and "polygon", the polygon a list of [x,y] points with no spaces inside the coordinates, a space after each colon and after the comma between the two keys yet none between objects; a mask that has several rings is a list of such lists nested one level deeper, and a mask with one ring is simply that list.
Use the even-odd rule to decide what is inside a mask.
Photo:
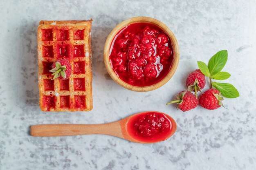
[{"label": "bare wooden handle of the jam-filled spoon", "polygon": [[108,124],[33,125],[30,127],[30,133],[37,137],[103,134],[124,138],[118,121]]}]

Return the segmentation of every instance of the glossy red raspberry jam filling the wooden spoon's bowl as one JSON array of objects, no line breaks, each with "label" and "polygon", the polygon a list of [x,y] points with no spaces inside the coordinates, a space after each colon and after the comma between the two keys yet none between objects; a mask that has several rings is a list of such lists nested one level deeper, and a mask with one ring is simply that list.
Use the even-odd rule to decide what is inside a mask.
[{"label": "glossy red raspberry jam filling the wooden spoon's bowl", "polygon": [[163,113],[146,112],[130,118],[126,125],[128,134],[143,142],[164,141],[170,137],[172,123]]}]

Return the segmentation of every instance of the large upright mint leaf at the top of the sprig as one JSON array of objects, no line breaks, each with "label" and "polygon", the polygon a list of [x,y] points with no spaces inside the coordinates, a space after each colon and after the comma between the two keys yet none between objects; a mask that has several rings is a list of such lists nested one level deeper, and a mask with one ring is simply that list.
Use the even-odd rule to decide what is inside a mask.
[{"label": "large upright mint leaf at the top of the sprig", "polygon": [[210,75],[216,75],[227,62],[227,50],[222,50],[211,57],[208,63]]}]

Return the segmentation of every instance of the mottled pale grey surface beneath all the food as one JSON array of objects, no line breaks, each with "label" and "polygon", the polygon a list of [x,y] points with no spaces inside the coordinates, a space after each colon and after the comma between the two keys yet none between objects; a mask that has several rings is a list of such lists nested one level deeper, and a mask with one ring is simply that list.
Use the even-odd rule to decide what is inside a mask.
[{"label": "mottled pale grey surface beneath all the food", "polygon": [[[0,170],[253,170],[256,168],[256,2],[216,1],[1,1]],[[161,20],[175,33],[180,63],[163,87],[128,91],[103,63],[103,46],[119,22],[134,16]],[[44,113],[38,106],[36,29],[40,20],[92,18],[93,110]],[[185,88],[186,75],[227,49],[225,81],[240,92],[225,108],[182,113],[165,106]],[[33,124],[97,124],[146,110],[177,121],[177,132],[157,144],[136,144],[106,135],[31,137]]]}]

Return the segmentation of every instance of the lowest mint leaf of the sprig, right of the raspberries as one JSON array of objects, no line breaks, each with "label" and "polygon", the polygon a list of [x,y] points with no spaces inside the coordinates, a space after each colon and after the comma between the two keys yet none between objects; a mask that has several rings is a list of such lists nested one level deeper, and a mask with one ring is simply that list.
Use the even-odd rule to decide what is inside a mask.
[{"label": "lowest mint leaf of the sprig, right of the raspberries", "polygon": [[217,88],[218,91],[220,91],[224,97],[227,97],[227,98],[239,97],[238,91],[232,84],[217,83],[217,82],[211,82],[211,84],[213,85],[213,87]]}]

